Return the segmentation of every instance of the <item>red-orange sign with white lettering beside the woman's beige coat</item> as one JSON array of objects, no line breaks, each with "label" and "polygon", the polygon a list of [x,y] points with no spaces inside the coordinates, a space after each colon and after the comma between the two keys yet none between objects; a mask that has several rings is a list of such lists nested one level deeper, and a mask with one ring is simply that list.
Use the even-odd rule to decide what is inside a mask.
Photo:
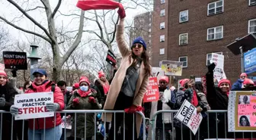
[{"label": "red-orange sign with white lettering beside the woman's beige coat", "polygon": [[152,102],[159,100],[159,89],[156,77],[149,78],[149,85],[144,95],[143,102]]}]

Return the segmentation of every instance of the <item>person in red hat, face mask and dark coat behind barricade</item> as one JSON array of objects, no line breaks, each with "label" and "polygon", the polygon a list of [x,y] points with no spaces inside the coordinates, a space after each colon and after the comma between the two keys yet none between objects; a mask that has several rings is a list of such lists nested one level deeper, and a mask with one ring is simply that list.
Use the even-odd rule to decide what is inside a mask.
[{"label": "person in red hat, face mask and dark coat behind barricade", "polygon": [[[90,87],[89,79],[86,76],[82,76],[79,81],[79,89],[74,92],[69,100],[69,104],[66,110],[99,110],[101,109],[98,104],[96,90]],[[85,126],[86,118],[86,126]],[[85,137],[85,127],[86,127],[86,140],[91,140],[94,136],[94,114],[77,114],[76,115],[76,127],[75,123],[72,123],[72,134],[68,140],[82,139]],[[75,134],[76,130],[76,134]]]}]

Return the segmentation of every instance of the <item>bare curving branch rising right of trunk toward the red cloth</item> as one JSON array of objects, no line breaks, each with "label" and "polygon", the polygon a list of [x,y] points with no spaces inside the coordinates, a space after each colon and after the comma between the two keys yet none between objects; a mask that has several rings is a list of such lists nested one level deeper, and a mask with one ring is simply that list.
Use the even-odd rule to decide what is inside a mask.
[{"label": "bare curving branch rising right of trunk toward the red cloth", "polygon": [[69,50],[63,56],[62,61],[60,63],[61,66],[65,63],[65,61],[69,59],[69,55],[72,54],[73,51],[75,51],[75,48],[77,48],[78,44],[81,42],[83,28],[84,28],[84,21],[85,21],[84,15],[85,15],[85,11],[81,11],[78,36],[76,37],[75,42],[72,44]]}]

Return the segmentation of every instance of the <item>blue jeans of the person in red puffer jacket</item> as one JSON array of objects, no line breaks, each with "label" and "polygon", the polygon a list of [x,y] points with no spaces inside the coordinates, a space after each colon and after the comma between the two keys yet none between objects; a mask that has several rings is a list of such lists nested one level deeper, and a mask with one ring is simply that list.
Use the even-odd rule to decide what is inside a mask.
[{"label": "blue jeans of the person in red puffer jacket", "polygon": [[28,140],[59,140],[62,135],[62,126],[56,126],[51,129],[45,129],[44,139],[43,129],[28,129]]}]

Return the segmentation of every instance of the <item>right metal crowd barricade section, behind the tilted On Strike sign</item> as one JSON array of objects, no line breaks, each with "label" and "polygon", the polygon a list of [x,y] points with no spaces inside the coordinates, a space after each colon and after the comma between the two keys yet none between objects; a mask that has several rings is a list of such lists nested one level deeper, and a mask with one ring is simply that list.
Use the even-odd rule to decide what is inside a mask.
[{"label": "right metal crowd barricade section, behind the tilted On Strike sign", "polygon": [[[161,140],[188,140],[188,139],[185,139],[183,138],[184,135],[190,135],[190,140],[192,139],[195,139],[195,140],[203,140],[203,139],[206,139],[206,138],[213,138],[215,137],[216,139],[218,138],[242,138],[242,139],[253,139],[255,138],[255,134],[254,132],[228,132],[228,120],[227,120],[227,110],[209,110],[206,112],[206,117],[204,117],[203,121],[205,121],[206,123],[206,128],[201,128],[202,126],[202,123],[200,125],[200,128],[197,130],[197,134],[194,135],[191,131],[190,133],[183,133],[184,129],[181,129],[181,139],[177,139],[177,138],[174,138],[174,137],[177,137],[177,135],[175,134],[176,132],[174,132],[174,114],[177,113],[178,110],[158,110],[153,116],[152,116],[152,120],[151,120],[151,124],[152,124],[152,129],[149,130],[152,132],[152,134],[150,135],[151,138],[149,140],[160,140],[158,139],[158,135],[157,135],[157,132],[156,132],[156,118],[158,116],[158,114],[163,114],[163,113],[171,113],[171,117],[172,117],[172,123],[171,123],[171,129],[172,129],[172,132],[171,132],[171,135],[172,135],[172,138],[165,138],[165,123],[164,123],[164,118],[162,115],[162,138]],[[224,115],[223,115],[224,114]],[[224,120],[219,120],[218,118],[221,117],[224,118]],[[215,122],[213,122],[215,121]],[[219,126],[220,124],[222,123],[221,126]],[[181,123],[181,128],[182,128],[182,123]],[[223,127],[224,126],[224,127]],[[222,134],[220,135],[219,134],[219,129],[222,129],[224,132],[222,132]],[[213,131],[215,130],[215,131]],[[203,133],[202,132],[206,132],[206,133]],[[246,134],[246,135],[245,135]],[[175,136],[176,135],[176,136]],[[194,137],[194,138],[193,138]]]}]

